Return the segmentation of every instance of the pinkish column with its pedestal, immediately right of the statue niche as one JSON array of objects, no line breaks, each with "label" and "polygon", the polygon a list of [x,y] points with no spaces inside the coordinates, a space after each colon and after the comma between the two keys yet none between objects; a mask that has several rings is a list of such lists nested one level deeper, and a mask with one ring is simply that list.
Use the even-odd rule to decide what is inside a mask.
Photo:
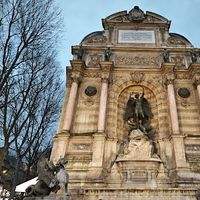
[{"label": "pinkish column with its pedestal, immediately right of the statue niche", "polygon": [[176,106],[176,98],[174,92],[174,80],[175,75],[173,72],[166,75],[167,80],[167,92],[168,92],[168,102],[169,102],[169,111],[171,119],[171,141],[174,146],[174,156],[176,163],[177,173],[186,171],[188,169],[188,164],[186,162],[185,156],[185,145],[184,145],[184,136],[180,134],[178,112]]}]

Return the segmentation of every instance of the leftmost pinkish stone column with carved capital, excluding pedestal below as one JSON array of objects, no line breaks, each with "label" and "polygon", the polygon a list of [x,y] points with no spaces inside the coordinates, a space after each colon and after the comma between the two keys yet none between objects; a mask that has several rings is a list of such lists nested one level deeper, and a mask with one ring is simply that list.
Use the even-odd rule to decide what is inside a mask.
[{"label": "leftmost pinkish stone column with carved capital, excluding pedestal below", "polygon": [[85,68],[84,62],[79,60],[72,60],[71,65],[72,65],[72,75],[71,75],[72,84],[70,88],[66,111],[64,114],[63,132],[69,132],[72,126],[77,93],[78,93],[78,86],[79,83],[81,82],[82,73]]}]

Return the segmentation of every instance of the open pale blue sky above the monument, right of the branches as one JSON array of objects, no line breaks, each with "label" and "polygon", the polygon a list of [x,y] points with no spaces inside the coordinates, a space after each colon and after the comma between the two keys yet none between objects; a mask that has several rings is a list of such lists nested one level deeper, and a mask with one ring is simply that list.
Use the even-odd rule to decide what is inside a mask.
[{"label": "open pale blue sky above the monument, right of the branches", "polygon": [[63,30],[58,62],[65,69],[72,59],[71,46],[91,32],[103,30],[101,19],[130,11],[135,5],[171,20],[170,32],[186,37],[200,48],[200,0],[55,0],[62,11]]}]

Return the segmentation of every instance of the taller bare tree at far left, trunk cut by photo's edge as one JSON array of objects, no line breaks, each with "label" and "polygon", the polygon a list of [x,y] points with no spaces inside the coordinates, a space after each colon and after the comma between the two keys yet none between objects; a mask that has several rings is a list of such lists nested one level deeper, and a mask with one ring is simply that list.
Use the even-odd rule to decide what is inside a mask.
[{"label": "taller bare tree at far left, trunk cut by photo's edge", "polygon": [[[37,107],[47,101],[50,104],[47,90],[54,84],[59,85],[58,73],[55,76],[55,71],[50,73],[49,68],[55,70],[54,49],[60,17],[58,9],[54,8],[54,0],[1,0],[0,13],[2,162],[9,146],[14,142],[19,146],[20,139],[23,141],[22,133],[26,136],[31,132],[30,127],[42,120],[42,117],[36,120],[39,116]],[[39,129],[47,123],[47,118],[41,123]]]}]

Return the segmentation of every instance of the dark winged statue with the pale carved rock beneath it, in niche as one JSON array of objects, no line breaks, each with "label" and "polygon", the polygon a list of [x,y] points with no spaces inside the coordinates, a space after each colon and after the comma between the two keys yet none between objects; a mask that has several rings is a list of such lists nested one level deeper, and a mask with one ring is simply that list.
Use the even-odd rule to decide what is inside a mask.
[{"label": "dark winged statue with the pale carved rock beneath it, in niche", "polygon": [[[139,89],[139,91],[138,91]],[[144,97],[144,87],[131,92],[126,105],[124,121],[128,124],[127,142],[120,147],[121,158],[159,159],[155,143],[155,130],[150,126],[153,118],[151,106]]]}]

